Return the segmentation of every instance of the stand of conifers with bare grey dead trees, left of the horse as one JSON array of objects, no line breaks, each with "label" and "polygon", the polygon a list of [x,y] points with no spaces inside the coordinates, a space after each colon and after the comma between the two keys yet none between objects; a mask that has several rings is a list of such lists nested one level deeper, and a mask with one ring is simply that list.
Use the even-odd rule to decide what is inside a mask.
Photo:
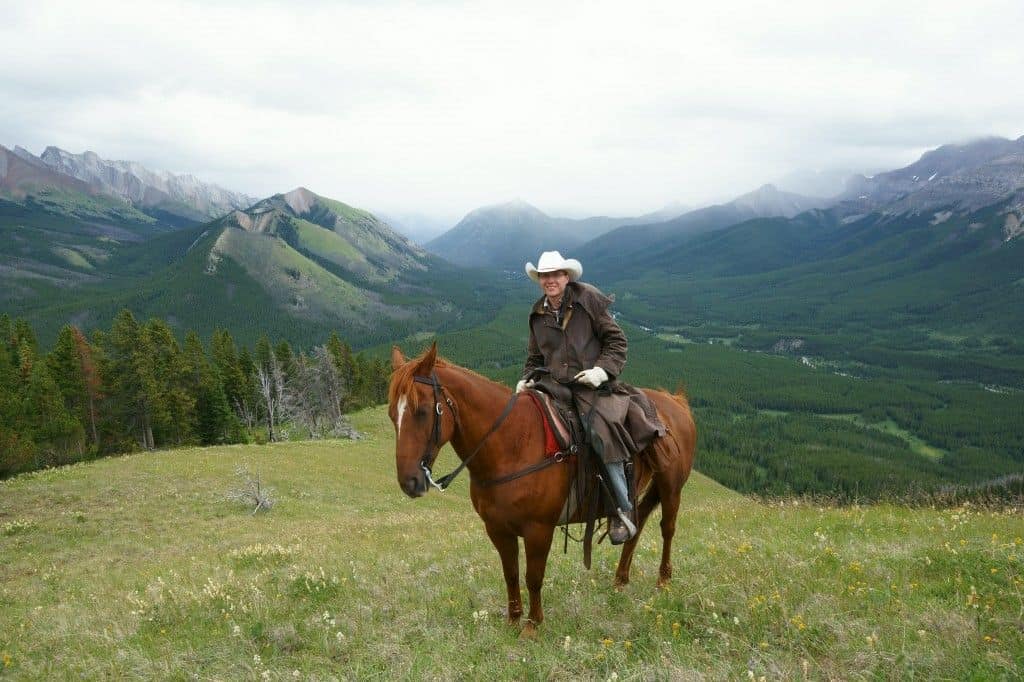
[{"label": "stand of conifers with bare grey dead trees, left of the horse", "polygon": [[347,412],[383,400],[387,372],[337,334],[296,351],[266,336],[239,346],[221,329],[205,347],[128,310],[91,339],[67,326],[44,352],[3,314],[0,477],[140,449],[345,435]]}]

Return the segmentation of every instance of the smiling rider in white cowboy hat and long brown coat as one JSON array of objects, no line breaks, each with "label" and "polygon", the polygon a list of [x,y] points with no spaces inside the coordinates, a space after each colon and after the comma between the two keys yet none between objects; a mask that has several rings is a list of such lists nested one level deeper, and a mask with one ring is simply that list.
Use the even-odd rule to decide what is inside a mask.
[{"label": "smiling rider in white cowboy hat and long brown coat", "polygon": [[528,354],[516,392],[536,384],[547,384],[555,397],[571,391],[615,498],[608,537],[622,544],[637,532],[625,463],[665,435],[665,426],[643,393],[615,380],[626,365],[626,335],[608,312],[612,299],[579,281],[580,261],[545,251],[525,269],[543,294],[529,313]]}]

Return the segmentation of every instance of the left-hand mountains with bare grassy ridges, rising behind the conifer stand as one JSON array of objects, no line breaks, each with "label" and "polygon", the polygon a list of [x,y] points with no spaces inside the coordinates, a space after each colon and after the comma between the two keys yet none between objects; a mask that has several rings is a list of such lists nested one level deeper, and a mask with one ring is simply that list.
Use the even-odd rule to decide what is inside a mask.
[{"label": "left-hand mountains with bare grassy ridges, rising behind the conifer stand", "polygon": [[129,307],[250,341],[343,330],[365,344],[471,323],[486,291],[373,214],[303,187],[252,200],[55,147],[0,147],[0,306],[44,336]]}]

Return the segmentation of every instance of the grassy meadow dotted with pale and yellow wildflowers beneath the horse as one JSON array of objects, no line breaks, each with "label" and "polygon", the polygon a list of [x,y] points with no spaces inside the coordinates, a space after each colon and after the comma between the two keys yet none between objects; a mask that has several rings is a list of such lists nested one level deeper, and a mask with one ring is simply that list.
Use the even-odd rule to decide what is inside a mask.
[{"label": "grassy meadow dotted with pale and yellow wildflowers beneath the horse", "polygon": [[[139,454],[0,481],[0,678],[1020,679],[1019,510],[762,504],[694,474],[675,579],[556,537],[540,637],[503,621],[460,479],[408,500],[367,437]],[[455,462],[442,456],[440,469]],[[239,466],[268,512],[226,498]],[[699,452],[697,459],[699,468]],[[656,521],[657,512],[653,519]]]}]

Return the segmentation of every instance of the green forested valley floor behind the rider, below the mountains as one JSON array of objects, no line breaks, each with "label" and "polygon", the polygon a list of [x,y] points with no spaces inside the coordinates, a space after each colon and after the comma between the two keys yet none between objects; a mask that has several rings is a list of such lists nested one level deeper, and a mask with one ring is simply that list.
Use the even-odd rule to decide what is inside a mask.
[{"label": "green forested valley floor behind the rider, below the mountains", "polygon": [[[441,335],[439,352],[512,385],[526,354],[527,312],[526,301],[510,304],[488,325]],[[837,361],[799,349],[744,350],[716,330],[689,337],[625,329],[622,379],[688,394],[698,433],[694,467],[730,488],[927,500],[952,488],[972,494],[1024,471],[1024,389],[977,378],[1019,382],[1019,358],[950,352],[958,361],[946,361],[865,349]],[[409,354],[423,345],[402,342]],[[1019,483],[1007,492],[1019,497]]]}]

